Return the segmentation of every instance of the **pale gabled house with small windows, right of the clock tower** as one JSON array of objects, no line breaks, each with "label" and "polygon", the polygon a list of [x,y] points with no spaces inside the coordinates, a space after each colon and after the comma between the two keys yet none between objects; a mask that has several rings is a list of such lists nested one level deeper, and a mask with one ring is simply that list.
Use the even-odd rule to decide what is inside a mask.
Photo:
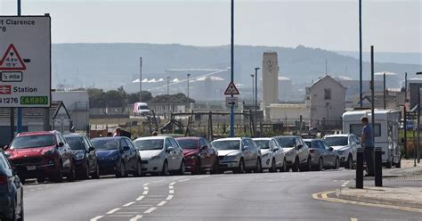
[{"label": "pale gabled house with small windows, right of the clock tower", "polygon": [[326,75],[308,88],[311,108],[311,127],[319,129],[341,129],[345,111],[345,86]]}]

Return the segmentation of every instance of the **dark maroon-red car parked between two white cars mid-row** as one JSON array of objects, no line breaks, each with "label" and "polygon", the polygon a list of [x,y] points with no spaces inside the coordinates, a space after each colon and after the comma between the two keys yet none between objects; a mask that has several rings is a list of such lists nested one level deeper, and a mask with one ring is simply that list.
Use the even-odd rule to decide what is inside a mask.
[{"label": "dark maroon-red car parked between two white cars mid-row", "polygon": [[183,149],[186,160],[186,171],[192,174],[200,174],[207,171],[218,171],[218,152],[201,137],[179,137],[176,141]]}]

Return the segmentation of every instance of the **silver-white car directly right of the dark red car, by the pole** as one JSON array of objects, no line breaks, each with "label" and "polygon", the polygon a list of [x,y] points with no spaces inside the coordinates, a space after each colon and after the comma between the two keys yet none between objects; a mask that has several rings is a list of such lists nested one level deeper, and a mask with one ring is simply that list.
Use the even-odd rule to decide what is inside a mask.
[{"label": "silver-white car directly right of the dark red car, by the pole", "polygon": [[223,138],[211,143],[218,151],[220,171],[231,170],[234,173],[255,171],[261,173],[261,151],[248,137]]}]

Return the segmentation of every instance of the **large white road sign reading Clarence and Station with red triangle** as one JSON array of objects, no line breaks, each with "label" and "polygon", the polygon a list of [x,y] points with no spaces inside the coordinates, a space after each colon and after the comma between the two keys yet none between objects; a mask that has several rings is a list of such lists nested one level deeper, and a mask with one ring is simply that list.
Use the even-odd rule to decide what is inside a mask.
[{"label": "large white road sign reading Clarence and Station with red triangle", "polygon": [[50,107],[50,16],[0,16],[0,39],[0,107]]}]

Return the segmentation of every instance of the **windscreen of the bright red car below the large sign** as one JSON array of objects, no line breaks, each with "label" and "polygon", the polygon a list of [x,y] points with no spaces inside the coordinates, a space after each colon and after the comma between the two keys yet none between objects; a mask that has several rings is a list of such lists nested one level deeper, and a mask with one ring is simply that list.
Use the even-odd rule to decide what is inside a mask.
[{"label": "windscreen of the bright red car below the large sign", "polygon": [[13,139],[11,149],[25,149],[55,145],[54,135],[24,135]]}]

